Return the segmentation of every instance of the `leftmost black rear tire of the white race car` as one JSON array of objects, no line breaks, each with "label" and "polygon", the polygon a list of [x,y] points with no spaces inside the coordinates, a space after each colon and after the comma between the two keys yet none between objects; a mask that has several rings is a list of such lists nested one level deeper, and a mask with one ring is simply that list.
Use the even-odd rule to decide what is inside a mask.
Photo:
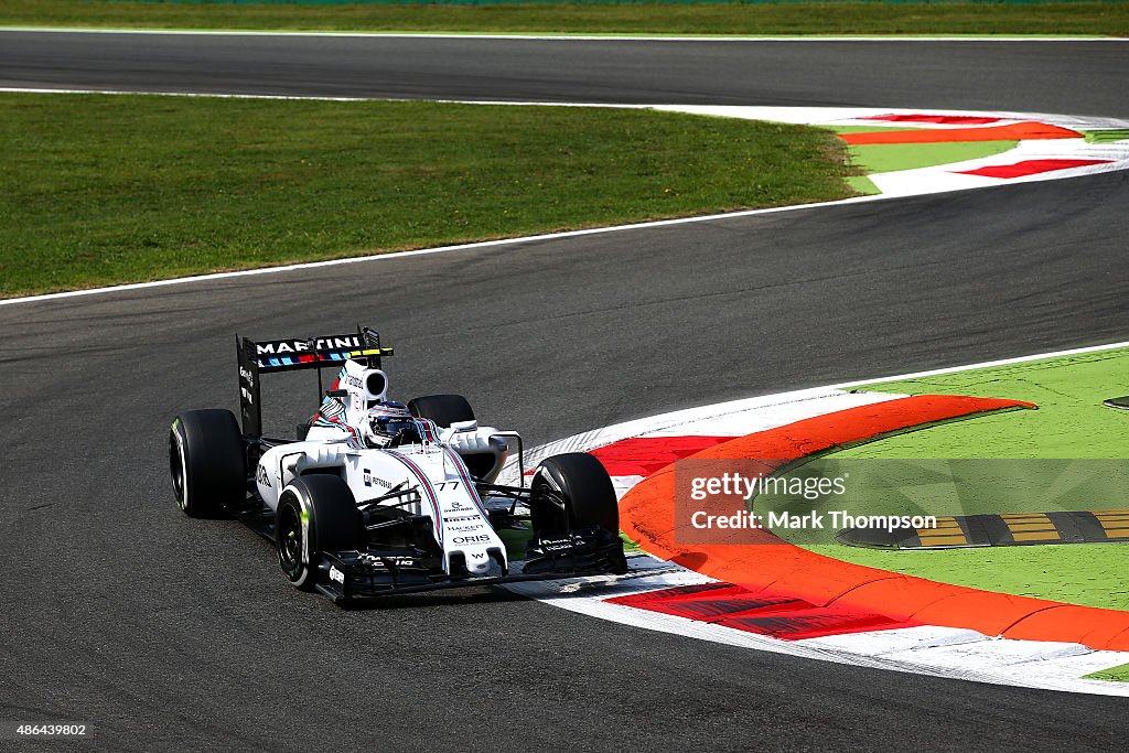
[{"label": "leftmost black rear tire of the white race car", "polygon": [[194,518],[213,517],[246,499],[243,435],[231,411],[189,411],[168,434],[168,466],[177,506]]}]

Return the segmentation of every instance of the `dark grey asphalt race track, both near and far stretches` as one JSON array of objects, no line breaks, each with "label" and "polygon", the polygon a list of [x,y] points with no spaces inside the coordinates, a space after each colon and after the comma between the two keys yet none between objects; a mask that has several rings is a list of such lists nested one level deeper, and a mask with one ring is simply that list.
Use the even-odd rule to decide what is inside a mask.
[{"label": "dark grey asphalt race track, both near and far stretches", "polygon": [[[0,86],[34,87],[1124,117],[1127,69],[1127,43],[0,33]],[[75,748],[107,751],[1123,750],[1112,698],[739,650],[488,589],[341,611],[239,524],[176,511],[166,435],[183,410],[237,406],[234,333],[358,319],[397,349],[394,394],[462,392],[532,444],[1124,340],[1127,205],[1113,173],[0,306],[0,721],[85,721]],[[268,382],[278,430],[315,392]]]}]

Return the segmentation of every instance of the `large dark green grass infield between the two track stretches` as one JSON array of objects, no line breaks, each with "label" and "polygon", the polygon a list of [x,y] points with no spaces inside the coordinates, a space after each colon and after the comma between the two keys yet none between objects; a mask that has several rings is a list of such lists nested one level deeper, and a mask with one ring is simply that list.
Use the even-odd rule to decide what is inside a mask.
[{"label": "large dark green grass infield between the two track stretches", "polygon": [[0,296],[841,199],[841,142],[648,111],[0,95]]}]

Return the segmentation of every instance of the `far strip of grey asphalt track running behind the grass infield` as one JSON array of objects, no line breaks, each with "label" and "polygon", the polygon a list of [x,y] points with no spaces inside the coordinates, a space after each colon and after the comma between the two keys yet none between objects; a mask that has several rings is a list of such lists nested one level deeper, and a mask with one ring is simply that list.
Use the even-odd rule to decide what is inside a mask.
[{"label": "far strip of grey asphalt track running behind the grass infield", "polygon": [[1129,114],[1122,42],[2,33],[0,87]]}]

